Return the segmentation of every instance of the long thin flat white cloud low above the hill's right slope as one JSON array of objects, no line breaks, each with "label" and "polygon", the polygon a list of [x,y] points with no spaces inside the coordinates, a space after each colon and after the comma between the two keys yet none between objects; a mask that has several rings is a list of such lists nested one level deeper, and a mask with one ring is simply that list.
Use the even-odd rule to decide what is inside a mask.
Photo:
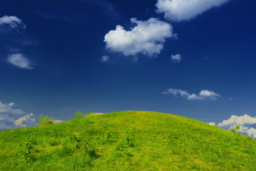
[{"label": "long thin flat white cloud low above the hill's right slope", "polygon": [[206,99],[210,99],[210,100],[217,100],[221,97],[221,95],[213,92],[213,91],[208,91],[208,90],[201,90],[201,92],[199,92],[199,95],[195,95],[188,93],[185,90],[182,89],[173,89],[173,88],[169,88],[167,89],[167,91],[162,92],[163,94],[172,94],[175,97],[183,97],[186,98],[187,100],[206,100]]}]

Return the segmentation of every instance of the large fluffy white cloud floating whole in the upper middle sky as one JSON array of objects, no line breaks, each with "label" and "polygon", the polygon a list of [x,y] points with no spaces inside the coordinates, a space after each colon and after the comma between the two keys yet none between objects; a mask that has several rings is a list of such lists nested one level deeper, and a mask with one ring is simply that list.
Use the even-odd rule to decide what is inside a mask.
[{"label": "large fluffy white cloud floating whole in the upper middle sky", "polygon": [[123,52],[125,56],[142,53],[148,56],[158,55],[163,49],[166,38],[175,37],[173,27],[156,18],[147,21],[137,21],[131,18],[131,23],[137,26],[126,31],[117,25],[115,30],[105,35],[106,48],[115,52]]}]

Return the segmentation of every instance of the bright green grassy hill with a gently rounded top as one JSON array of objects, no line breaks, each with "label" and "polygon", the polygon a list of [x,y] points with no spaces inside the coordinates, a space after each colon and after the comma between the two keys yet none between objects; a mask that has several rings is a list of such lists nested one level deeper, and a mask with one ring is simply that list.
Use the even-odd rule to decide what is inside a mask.
[{"label": "bright green grassy hill with a gently rounded top", "polygon": [[1,131],[0,150],[0,170],[256,168],[254,139],[186,117],[143,111]]}]

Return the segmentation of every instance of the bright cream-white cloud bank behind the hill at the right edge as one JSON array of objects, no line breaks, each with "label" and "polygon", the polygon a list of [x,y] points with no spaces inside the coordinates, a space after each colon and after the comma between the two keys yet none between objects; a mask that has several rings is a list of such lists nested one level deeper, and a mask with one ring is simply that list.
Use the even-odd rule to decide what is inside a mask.
[{"label": "bright cream-white cloud bank behind the hill at the right edge", "polygon": [[256,129],[253,127],[245,127],[246,125],[251,124],[256,124],[256,117],[251,117],[247,114],[243,116],[232,115],[229,119],[223,120],[222,123],[219,123],[218,127],[230,130],[230,128],[234,128],[235,126],[240,125],[239,132],[246,133],[248,136],[256,139]]}]

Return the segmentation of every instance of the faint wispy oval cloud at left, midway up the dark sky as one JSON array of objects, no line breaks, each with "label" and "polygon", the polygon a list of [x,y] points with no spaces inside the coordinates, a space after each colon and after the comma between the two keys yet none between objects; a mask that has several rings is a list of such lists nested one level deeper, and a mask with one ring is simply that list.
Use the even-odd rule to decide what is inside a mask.
[{"label": "faint wispy oval cloud at left, midway up the dark sky", "polygon": [[11,64],[14,64],[15,66],[19,68],[24,69],[33,69],[33,67],[30,66],[30,61],[25,58],[22,54],[11,54],[8,55],[8,62]]}]

